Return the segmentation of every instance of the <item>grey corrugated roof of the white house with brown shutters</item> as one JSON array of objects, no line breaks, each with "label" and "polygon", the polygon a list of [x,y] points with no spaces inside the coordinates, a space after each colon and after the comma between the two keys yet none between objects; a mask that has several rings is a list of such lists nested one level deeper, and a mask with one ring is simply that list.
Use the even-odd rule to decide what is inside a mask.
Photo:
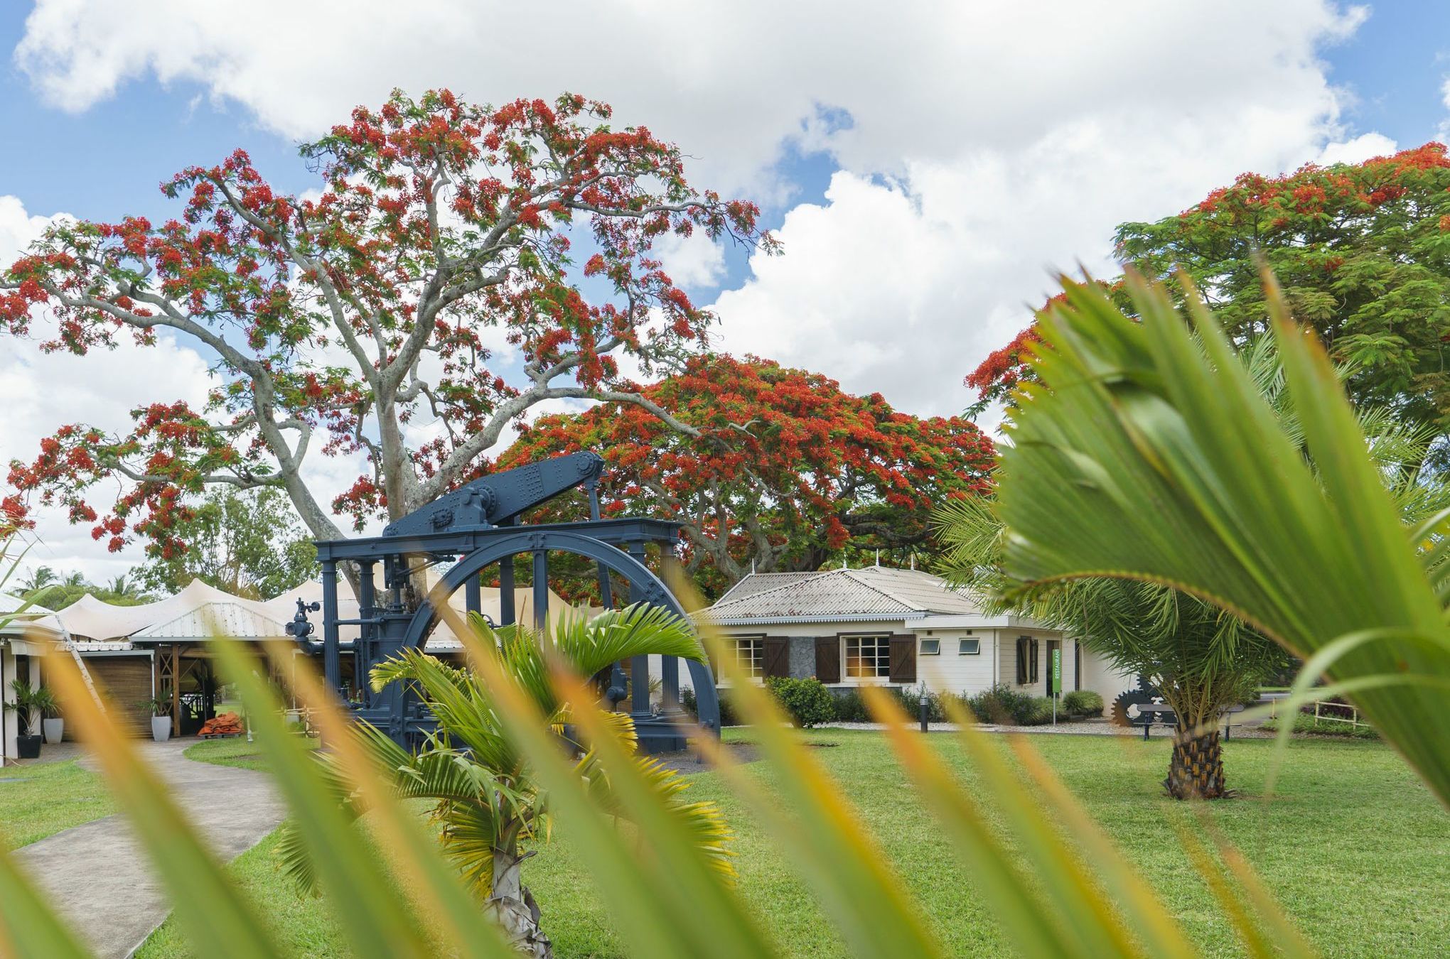
[{"label": "grey corrugated roof of the white house with brown shutters", "polygon": [[[777,577],[764,588],[751,579]],[[786,578],[780,578],[786,577]],[[745,590],[741,590],[745,587]],[[931,613],[976,613],[977,604],[963,591],[918,569],[826,569],[813,574],[753,574],[705,611],[716,621],[751,619],[829,620],[916,619]]]}]

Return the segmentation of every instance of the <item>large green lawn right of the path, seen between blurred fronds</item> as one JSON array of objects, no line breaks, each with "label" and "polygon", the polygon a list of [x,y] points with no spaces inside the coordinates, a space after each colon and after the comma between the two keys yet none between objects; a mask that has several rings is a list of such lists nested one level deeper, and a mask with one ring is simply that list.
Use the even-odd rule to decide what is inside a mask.
[{"label": "large green lawn right of the path, seen between blurred fronds", "polygon": [[[915,801],[879,733],[824,730],[812,742],[834,743],[819,756],[861,811],[912,898],[948,955],[1009,955],[973,888],[972,869],[944,846],[940,830]],[[726,730],[748,740],[750,730]],[[1098,736],[1034,736],[1037,746],[1089,811],[1118,840],[1189,934],[1209,955],[1240,950],[1212,897],[1179,852],[1173,823],[1185,808],[1160,797],[1167,740]],[[945,734],[932,743],[970,784],[960,749]],[[218,761],[235,740],[206,743]],[[1372,742],[1296,740],[1272,801],[1260,803],[1272,743],[1225,743],[1231,787],[1248,798],[1215,803],[1212,816],[1259,869],[1299,929],[1331,956],[1431,956],[1450,942],[1450,816],[1404,762]],[[202,752],[202,746],[194,752]],[[200,758],[200,756],[197,756]],[[757,775],[770,771],[757,763]],[[771,937],[793,956],[844,955],[831,924],[770,839],[709,772],[692,776],[690,792],[718,800],[737,830],[740,894]],[[260,904],[260,914],[297,953],[342,956],[339,930],[322,904],[300,900],[276,871],[274,843],[242,855],[232,872]],[[624,956],[593,891],[593,879],[561,834],[525,871],[560,956]],[[186,946],[168,921],[138,956],[181,956]]]}]

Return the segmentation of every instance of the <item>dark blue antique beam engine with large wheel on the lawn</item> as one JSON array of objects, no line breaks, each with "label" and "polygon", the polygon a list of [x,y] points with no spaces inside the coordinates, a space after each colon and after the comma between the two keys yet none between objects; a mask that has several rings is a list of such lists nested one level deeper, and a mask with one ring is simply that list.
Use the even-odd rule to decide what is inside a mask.
[{"label": "dark blue antique beam engine with large wheel on the lawn", "polygon": [[[439,497],[434,503],[389,524],[381,536],[318,543],[322,564],[322,661],[328,684],[341,690],[338,627],[357,624],[361,636],[352,655],[361,701],[354,713],[387,730],[399,743],[416,745],[432,729],[432,717],[399,684],[381,692],[367,688],[365,677],[378,662],[403,648],[419,649],[438,620],[438,607],[457,590],[465,591],[465,604],[477,611],[478,577],[499,564],[500,623],[515,621],[513,559],[523,553],[532,561],[534,616],[542,626],[548,616],[548,553],[564,552],[592,559],[599,568],[599,588],[606,607],[612,606],[609,574],[628,582],[626,603],[663,606],[684,616],[684,607],[645,566],[645,546],[658,543],[664,562],[673,562],[679,542],[677,523],[648,519],[599,519],[597,484],[605,461],[596,453],[573,453],[506,469],[476,480]],[[522,524],[519,516],[529,508],[583,485],[589,493],[590,519],[580,523]],[[457,561],[420,603],[410,608],[409,562]],[[360,574],[355,620],[338,619],[338,564],[354,562]],[[377,579],[381,565],[381,581]],[[299,616],[302,616],[299,613]],[[299,636],[302,639],[302,636]],[[719,701],[715,678],[706,665],[686,661],[695,687],[700,726],[719,732]],[[629,708],[644,752],[683,749],[680,733],[680,661],[663,661],[663,710],[650,707],[650,669],[644,658],[631,663]]]}]

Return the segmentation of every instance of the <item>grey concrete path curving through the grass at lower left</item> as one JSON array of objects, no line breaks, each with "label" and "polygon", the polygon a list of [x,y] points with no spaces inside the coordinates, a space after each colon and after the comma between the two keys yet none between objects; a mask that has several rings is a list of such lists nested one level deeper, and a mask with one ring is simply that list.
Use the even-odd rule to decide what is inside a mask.
[{"label": "grey concrete path curving through the grass at lower left", "polygon": [[[277,829],[284,807],[261,772],[183,756],[196,742],[174,739],[142,749],[212,850],[229,862]],[[171,911],[123,816],[67,829],[14,855],[103,959],[129,956]]]}]

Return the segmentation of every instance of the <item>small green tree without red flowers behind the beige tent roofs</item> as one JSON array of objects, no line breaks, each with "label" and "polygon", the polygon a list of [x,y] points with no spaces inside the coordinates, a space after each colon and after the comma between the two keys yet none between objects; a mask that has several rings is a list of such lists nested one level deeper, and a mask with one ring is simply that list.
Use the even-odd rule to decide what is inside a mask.
[{"label": "small green tree without red flowers behind the beige tent roofs", "polygon": [[188,516],[178,514],[171,536],[186,549],[151,546],[138,569],[139,579],[161,592],[200,579],[233,595],[270,600],[318,575],[312,536],[287,494],[273,487],[212,488]]}]

